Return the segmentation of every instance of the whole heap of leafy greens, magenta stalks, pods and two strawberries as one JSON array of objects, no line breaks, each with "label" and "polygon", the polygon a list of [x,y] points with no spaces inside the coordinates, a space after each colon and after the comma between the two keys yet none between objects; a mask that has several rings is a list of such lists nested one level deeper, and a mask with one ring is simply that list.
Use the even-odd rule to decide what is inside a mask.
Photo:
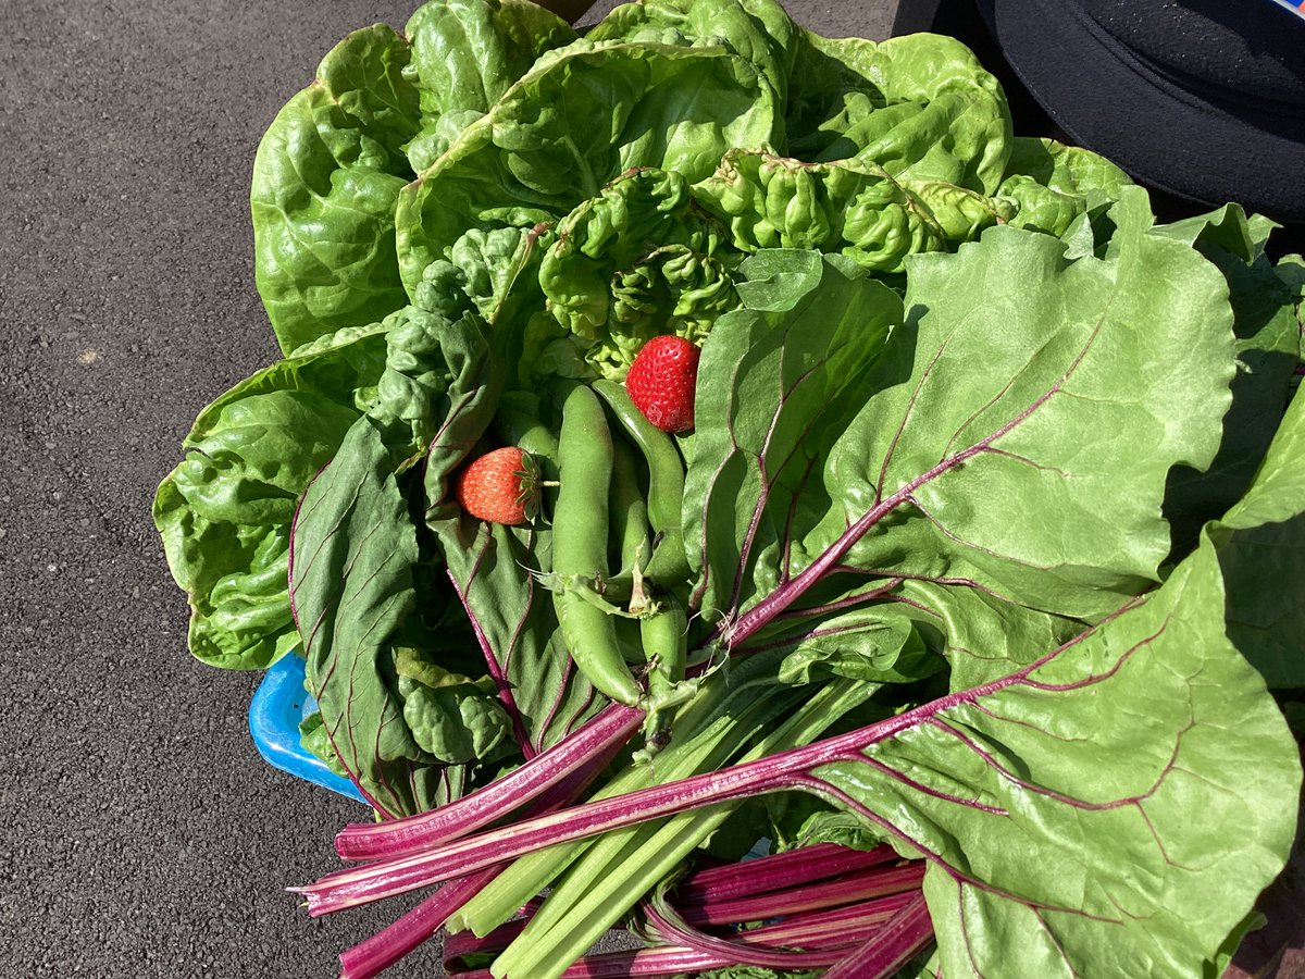
[{"label": "whole heap of leafy greens, magenta stalks, pods and two strawberries", "polygon": [[959,43],[771,0],[436,0],[252,204],[284,356],[154,516],[194,655],[303,655],[376,809],[309,911],[444,882],[346,975],[446,925],[470,975],[1197,976],[1255,924],[1305,687],[1271,222],[1159,225]]}]

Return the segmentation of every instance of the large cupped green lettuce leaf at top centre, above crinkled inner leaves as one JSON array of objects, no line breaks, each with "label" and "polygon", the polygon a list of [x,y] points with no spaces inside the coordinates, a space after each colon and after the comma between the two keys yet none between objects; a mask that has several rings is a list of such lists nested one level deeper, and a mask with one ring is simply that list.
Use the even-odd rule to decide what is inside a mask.
[{"label": "large cupped green lettuce leaf at top centre, above crinkled inner leaves", "polygon": [[774,91],[720,48],[578,40],[548,52],[399,197],[403,282],[415,295],[468,228],[557,221],[630,167],[699,180],[775,125]]}]

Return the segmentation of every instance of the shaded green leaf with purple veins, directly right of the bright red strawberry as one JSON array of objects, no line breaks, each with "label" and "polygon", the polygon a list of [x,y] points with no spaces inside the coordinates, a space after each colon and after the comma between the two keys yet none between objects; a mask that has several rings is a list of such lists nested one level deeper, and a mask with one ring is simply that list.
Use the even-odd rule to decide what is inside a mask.
[{"label": "shaded green leaf with purple veins, directly right of the bright red strawberry", "polygon": [[827,508],[813,476],[902,319],[897,294],[840,256],[762,252],[740,274],[745,308],[702,349],[685,476],[693,606],[709,620],[787,577],[793,509]]}]

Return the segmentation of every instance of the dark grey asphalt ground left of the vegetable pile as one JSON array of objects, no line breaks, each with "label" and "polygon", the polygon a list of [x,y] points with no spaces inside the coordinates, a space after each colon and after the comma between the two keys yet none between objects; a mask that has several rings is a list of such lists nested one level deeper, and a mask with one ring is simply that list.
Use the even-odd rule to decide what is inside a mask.
[{"label": "dark grey asphalt ground left of the vegetable pile", "polygon": [[[187,653],[150,503],[200,409],[277,359],[260,136],[345,34],[415,7],[0,4],[0,975],[328,976],[395,914],[284,892],[364,811],[260,758],[258,677]],[[895,9],[791,7],[872,38]],[[437,944],[393,972],[438,975]]]}]

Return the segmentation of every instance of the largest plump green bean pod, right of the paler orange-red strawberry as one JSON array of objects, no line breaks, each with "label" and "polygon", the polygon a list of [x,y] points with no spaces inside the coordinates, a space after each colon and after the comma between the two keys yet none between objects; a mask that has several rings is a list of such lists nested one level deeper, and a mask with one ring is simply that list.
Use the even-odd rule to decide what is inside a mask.
[{"label": "largest plump green bean pod, right of the paler orange-red strawberry", "polygon": [[[602,580],[607,577],[612,435],[602,403],[583,384],[562,403],[557,463],[561,487],[553,508],[553,573],[561,581]],[[621,655],[612,616],[587,602],[578,587],[556,589],[553,606],[576,667],[600,693],[638,706],[642,691]]]}]

